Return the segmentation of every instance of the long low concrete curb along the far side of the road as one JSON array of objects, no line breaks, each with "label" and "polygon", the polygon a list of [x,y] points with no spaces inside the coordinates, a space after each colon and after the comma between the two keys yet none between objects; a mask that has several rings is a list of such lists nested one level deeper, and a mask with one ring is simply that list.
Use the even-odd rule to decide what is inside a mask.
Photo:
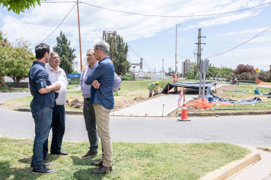
[{"label": "long low concrete curb along the far side of the road", "polygon": [[[31,112],[30,108],[18,108],[15,109],[15,111],[22,111],[22,112]],[[83,115],[83,111],[71,111],[66,110],[65,114],[69,115]],[[249,111],[249,112],[243,112],[243,111],[237,111],[237,112],[188,112],[188,117],[192,116],[238,116],[238,115],[264,115],[264,114],[271,114],[271,110],[268,111]],[[111,115],[111,116],[121,116],[121,115]],[[178,115],[179,117],[181,116]],[[128,117],[145,117],[145,116],[128,116]],[[148,116],[148,117],[162,117],[162,116]],[[164,117],[176,117],[176,116],[164,116]]]}]

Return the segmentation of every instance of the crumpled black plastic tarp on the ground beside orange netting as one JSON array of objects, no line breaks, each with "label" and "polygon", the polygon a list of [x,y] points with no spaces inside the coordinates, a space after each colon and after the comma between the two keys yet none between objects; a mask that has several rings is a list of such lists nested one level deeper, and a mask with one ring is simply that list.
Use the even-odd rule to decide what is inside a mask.
[{"label": "crumpled black plastic tarp on the ground beside orange netting", "polygon": [[240,100],[240,101],[223,99],[214,95],[210,87],[207,88],[207,92],[204,98],[208,100],[208,97],[214,98],[214,102],[224,102],[224,103],[232,103],[232,104],[255,104],[262,101],[262,99],[260,99],[259,97],[255,97],[253,99]]}]

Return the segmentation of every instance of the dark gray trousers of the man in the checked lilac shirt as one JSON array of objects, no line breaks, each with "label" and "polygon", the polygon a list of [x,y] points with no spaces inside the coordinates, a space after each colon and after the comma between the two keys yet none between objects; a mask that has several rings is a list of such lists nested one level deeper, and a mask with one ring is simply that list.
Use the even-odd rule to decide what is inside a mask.
[{"label": "dark gray trousers of the man in the checked lilac shirt", "polygon": [[90,101],[84,99],[83,115],[86,124],[86,131],[88,131],[89,149],[91,152],[98,152],[98,136],[96,129],[95,111]]}]

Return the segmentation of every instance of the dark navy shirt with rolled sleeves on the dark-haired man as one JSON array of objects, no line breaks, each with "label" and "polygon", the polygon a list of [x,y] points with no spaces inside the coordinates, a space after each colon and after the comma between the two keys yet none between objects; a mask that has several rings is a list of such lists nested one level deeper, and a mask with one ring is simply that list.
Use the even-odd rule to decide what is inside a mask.
[{"label": "dark navy shirt with rolled sleeves on the dark-haired man", "polygon": [[38,90],[51,85],[49,74],[45,69],[45,64],[39,61],[33,61],[33,65],[28,73],[29,87],[33,100],[30,103],[32,113],[38,112],[44,107],[54,107],[54,91],[46,94],[40,94]]}]

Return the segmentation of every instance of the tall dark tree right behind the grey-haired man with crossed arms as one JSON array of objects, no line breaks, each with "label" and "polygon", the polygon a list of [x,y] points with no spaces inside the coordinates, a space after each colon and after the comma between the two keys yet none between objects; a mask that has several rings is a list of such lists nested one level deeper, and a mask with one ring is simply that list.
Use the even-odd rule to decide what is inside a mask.
[{"label": "tall dark tree right behind the grey-haired man with crossed arms", "polygon": [[[112,59],[112,36],[106,36],[105,41],[110,45],[109,57]],[[131,65],[127,60],[128,45],[120,35],[114,36],[114,68],[117,75],[125,75]]]}]

